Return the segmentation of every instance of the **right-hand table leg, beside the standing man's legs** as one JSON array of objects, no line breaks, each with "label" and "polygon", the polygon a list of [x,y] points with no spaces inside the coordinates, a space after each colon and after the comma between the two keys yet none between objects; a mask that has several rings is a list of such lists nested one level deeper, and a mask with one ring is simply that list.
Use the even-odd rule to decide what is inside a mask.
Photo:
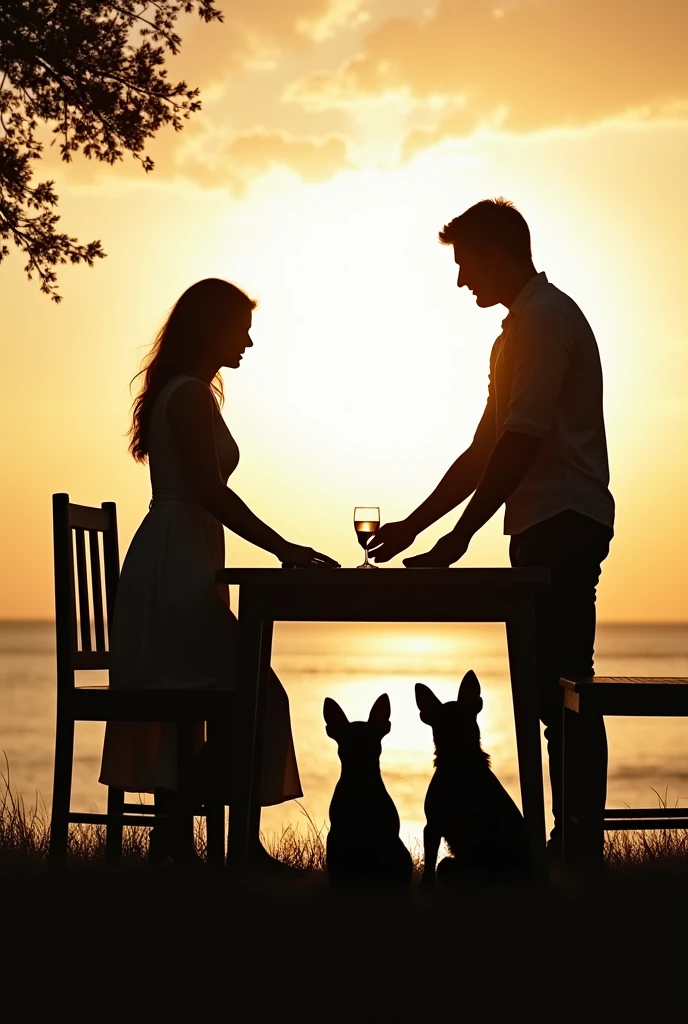
[{"label": "right-hand table leg, beside the standing man's legs", "polygon": [[535,612],[532,601],[527,604],[524,602],[518,614],[507,621],[507,646],[523,817],[528,829],[535,873],[544,877],[547,874],[545,795],[538,714]]}]

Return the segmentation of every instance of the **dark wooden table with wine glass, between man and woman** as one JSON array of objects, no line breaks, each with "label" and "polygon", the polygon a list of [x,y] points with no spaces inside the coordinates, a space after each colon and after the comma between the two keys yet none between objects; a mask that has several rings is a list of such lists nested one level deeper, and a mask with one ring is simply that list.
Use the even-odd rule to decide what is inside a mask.
[{"label": "dark wooden table with wine glass, between man and woman", "polygon": [[[521,800],[533,863],[545,871],[545,804],[535,684],[534,599],[548,569],[242,569],[216,573],[239,585],[239,713],[232,758],[236,796],[227,856],[250,860],[260,827],[267,679],[275,622],[503,622],[514,701]],[[466,667],[467,669],[470,666]],[[475,666],[478,675],[480,667]]]}]

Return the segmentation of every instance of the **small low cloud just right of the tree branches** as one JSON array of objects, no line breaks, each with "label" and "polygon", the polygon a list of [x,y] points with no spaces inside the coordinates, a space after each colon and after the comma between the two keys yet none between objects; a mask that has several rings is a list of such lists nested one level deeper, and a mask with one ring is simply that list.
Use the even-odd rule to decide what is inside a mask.
[{"label": "small low cloud just right of the tree branches", "polygon": [[340,135],[295,136],[263,128],[233,135],[215,154],[187,152],[177,164],[178,172],[199,184],[236,195],[275,168],[293,171],[304,181],[325,181],[348,166],[347,141]]}]

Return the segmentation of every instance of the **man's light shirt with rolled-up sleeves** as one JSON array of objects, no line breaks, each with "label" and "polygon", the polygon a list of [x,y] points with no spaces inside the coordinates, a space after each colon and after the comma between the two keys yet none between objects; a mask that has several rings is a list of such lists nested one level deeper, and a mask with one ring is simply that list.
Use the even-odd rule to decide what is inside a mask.
[{"label": "man's light shirt with rolled-up sleeves", "polygon": [[475,442],[505,430],[542,437],[534,465],[506,503],[505,534],[572,509],[613,526],[595,335],[575,302],[538,273],[502,322]]}]

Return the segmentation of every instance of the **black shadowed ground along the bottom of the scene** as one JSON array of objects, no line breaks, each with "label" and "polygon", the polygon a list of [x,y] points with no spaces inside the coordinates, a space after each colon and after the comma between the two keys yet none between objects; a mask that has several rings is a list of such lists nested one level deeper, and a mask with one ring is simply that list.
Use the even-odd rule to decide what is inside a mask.
[{"label": "black shadowed ground along the bottom of the scene", "polygon": [[321,873],[0,868],[6,1021],[685,1019],[688,874],[339,893]]}]

